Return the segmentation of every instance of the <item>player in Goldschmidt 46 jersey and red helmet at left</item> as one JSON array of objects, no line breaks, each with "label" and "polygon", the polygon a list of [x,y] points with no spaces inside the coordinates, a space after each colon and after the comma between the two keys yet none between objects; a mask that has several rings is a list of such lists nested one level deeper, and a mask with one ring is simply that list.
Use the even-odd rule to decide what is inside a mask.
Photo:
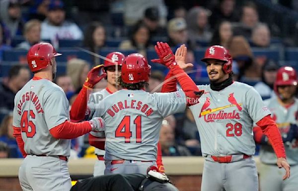
[{"label": "player in Goldschmidt 46 jersey and red helmet at left", "polygon": [[23,191],[69,191],[70,139],[104,128],[99,117],[69,121],[66,95],[52,83],[60,55],[49,43],[33,45],[27,60],[34,77],[14,98],[13,135],[25,157],[18,176]]}]

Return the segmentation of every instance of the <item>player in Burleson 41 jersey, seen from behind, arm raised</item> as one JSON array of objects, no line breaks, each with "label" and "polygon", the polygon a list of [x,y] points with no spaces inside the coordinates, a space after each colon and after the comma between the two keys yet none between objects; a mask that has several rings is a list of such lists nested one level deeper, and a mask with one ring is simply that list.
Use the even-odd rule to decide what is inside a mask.
[{"label": "player in Burleson 41 jersey, seen from behind, arm raised", "polygon": [[[93,115],[102,116],[108,125],[102,129],[106,138],[105,174],[146,175],[147,168],[156,165],[156,144],[162,119],[184,111],[186,104],[198,101],[202,93],[176,64],[175,56],[166,43],[158,42],[155,50],[160,63],[179,76],[184,92],[145,92],[150,75],[147,60],[141,54],[130,54],[125,58],[121,78],[118,78],[123,89],[101,101]],[[103,136],[102,133],[92,135]]]}]

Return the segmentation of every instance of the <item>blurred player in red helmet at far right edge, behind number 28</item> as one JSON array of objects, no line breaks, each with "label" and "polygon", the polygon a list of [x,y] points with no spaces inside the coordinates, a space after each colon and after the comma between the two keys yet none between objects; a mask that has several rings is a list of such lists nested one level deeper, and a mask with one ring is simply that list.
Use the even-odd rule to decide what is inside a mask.
[{"label": "blurred player in red helmet at far right edge, behind number 28", "polygon": [[286,154],[291,165],[291,178],[282,181],[282,169],[276,168],[274,151],[260,127],[255,127],[254,138],[261,144],[260,185],[262,191],[297,191],[298,184],[298,99],[297,73],[292,67],[282,67],[277,72],[274,91],[277,96],[265,100],[283,137]]}]

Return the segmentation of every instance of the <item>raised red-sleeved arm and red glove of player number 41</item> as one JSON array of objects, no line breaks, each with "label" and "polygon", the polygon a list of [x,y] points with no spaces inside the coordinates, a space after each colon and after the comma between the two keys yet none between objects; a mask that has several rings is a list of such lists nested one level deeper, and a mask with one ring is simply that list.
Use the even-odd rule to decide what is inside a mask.
[{"label": "raised red-sleeved arm and red glove of player number 41", "polygon": [[167,43],[157,42],[155,51],[159,59],[153,59],[152,62],[165,65],[175,76],[181,85],[183,92],[187,97],[187,105],[194,105],[199,102],[199,98],[204,94],[203,90],[199,90],[191,78],[179,67],[175,62],[175,55]]}]

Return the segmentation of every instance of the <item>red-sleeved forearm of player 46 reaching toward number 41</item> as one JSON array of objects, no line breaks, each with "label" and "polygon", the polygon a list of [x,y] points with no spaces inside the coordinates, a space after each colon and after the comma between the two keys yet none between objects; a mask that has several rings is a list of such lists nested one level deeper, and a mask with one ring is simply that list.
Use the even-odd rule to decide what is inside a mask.
[{"label": "red-sleeved forearm of player 46 reaching toward number 41", "polygon": [[80,123],[73,123],[71,121],[65,121],[64,123],[57,125],[50,129],[50,133],[56,139],[74,139],[92,130],[89,121]]}]

